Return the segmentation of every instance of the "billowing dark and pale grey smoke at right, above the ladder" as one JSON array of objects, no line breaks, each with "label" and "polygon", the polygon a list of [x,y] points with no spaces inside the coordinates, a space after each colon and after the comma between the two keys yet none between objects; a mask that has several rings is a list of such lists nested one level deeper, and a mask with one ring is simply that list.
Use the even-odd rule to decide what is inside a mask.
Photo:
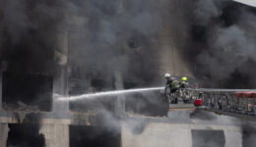
[{"label": "billowing dark and pale grey smoke at right, above the ladder", "polygon": [[[255,9],[228,0],[197,0],[189,50],[199,78],[211,86],[255,87]],[[191,52],[191,51],[189,51]]]}]

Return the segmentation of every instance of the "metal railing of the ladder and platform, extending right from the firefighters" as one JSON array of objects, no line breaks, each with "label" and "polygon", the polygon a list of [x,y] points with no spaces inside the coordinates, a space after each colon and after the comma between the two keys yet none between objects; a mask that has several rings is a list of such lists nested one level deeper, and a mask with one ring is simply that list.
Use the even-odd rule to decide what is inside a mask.
[{"label": "metal railing of the ladder and platform, extending right from the firefighters", "polygon": [[256,89],[180,88],[166,97],[169,104],[177,98],[190,104],[201,99],[206,110],[256,116]]}]

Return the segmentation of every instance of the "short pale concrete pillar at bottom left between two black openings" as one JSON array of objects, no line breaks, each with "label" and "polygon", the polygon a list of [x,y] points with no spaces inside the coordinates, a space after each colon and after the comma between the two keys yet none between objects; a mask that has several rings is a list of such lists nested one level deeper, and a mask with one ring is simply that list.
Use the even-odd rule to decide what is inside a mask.
[{"label": "short pale concrete pillar at bottom left between two black openings", "polygon": [[42,124],[39,133],[44,134],[46,147],[69,147],[67,124]]}]

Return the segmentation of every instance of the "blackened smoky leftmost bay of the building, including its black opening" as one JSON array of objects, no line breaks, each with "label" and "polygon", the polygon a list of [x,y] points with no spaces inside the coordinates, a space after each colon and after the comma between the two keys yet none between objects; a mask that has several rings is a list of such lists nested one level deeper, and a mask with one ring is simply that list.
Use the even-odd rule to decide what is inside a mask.
[{"label": "blackened smoky leftmost bay of the building, including its black opening", "polygon": [[6,109],[51,111],[62,0],[0,2],[0,72]]}]

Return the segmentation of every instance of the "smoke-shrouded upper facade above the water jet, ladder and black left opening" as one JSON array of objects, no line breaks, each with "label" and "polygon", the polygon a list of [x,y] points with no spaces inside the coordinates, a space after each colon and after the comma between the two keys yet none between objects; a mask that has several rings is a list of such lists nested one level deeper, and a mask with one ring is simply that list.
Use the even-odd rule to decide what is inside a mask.
[{"label": "smoke-shrouded upper facade above the water jet, ladder and black left opening", "polygon": [[127,88],[160,85],[166,72],[255,83],[255,9],[232,1],[3,0],[0,11],[1,69],[64,73],[60,84],[80,90],[71,95],[114,89],[116,71]]}]

